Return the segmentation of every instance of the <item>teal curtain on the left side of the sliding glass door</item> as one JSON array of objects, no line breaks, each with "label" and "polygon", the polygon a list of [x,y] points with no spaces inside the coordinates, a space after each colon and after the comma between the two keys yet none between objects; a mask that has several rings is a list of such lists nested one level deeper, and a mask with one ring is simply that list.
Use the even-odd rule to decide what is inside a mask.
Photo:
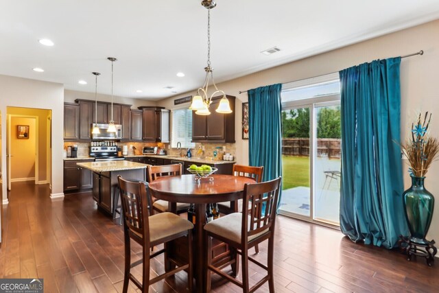
[{"label": "teal curtain on the left side of the sliding glass door", "polygon": [[264,167],[264,181],[282,176],[281,91],[282,84],[273,84],[247,92],[248,161]]}]

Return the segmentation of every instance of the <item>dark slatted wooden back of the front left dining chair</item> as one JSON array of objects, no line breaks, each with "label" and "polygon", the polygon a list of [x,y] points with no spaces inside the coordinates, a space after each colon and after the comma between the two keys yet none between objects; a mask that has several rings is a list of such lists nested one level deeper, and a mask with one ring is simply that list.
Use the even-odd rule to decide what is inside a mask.
[{"label": "dark slatted wooden back of the front left dining chair", "polygon": [[[145,231],[149,231],[149,215],[152,210],[149,202],[148,184],[143,181],[132,182],[117,176],[121,192],[122,217],[125,223],[124,228],[128,229],[130,235],[138,235],[145,239]],[[146,237],[150,239],[150,237]]]}]

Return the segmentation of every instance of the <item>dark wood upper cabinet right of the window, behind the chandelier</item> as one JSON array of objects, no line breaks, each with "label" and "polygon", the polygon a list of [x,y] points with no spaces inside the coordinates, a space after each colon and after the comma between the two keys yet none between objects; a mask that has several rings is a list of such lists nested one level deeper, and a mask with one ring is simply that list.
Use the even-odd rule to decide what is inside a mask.
[{"label": "dark wood upper cabinet right of the window, behind the chandelier", "polygon": [[192,115],[192,141],[235,143],[235,97],[227,95],[232,113],[221,114],[215,110],[220,97],[213,97],[210,115]]}]

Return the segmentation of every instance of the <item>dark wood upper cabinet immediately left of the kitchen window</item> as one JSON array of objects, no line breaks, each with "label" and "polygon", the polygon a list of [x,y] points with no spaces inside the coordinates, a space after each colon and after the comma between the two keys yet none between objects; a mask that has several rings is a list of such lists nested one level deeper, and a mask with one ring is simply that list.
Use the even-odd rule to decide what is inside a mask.
[{"label": "dark wood upper cabinet immediately left of the kitchen window", "polygon": [[141,106],[143,141],[169,143],[169,110],[163,107]]}]

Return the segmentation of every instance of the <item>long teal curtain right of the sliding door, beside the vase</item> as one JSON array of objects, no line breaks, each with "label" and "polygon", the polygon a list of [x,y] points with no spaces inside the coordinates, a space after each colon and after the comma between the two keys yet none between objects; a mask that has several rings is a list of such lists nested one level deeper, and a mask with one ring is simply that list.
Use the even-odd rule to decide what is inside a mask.
[{"label": "long teal curtain right of the sliding door, beside the vase", "polygon": [[407,235],[403,211],[401,58],[340,71],[340,228],[355,242],[392,248]]}]

